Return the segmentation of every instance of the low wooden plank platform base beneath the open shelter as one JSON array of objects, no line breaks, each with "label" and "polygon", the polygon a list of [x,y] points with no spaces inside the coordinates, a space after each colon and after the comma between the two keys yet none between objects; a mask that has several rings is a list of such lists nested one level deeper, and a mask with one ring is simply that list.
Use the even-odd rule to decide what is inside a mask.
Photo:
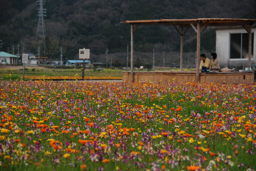
[{"label": "low wooden plank platform base beneath the open shelter", "polygon": [[[131,82],[131,72],[122,72],[122,82]],[[196,82],[195,71],[134,72],[134,82]],[[200,83],[253,83],[254,72],[200,73]]]}]

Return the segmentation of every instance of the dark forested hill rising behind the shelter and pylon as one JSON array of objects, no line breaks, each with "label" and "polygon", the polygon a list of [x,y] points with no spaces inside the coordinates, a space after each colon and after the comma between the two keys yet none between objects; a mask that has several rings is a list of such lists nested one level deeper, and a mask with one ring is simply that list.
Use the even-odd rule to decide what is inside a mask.
[{"label": "dark forested hill rising behind the shelter and pylon", "polygon": [[[64,58],[73,59],[84,47],[93,54],[104,54],[106,48],[109,53],[126,51],[131,38],[130,26],[120,23],[125,20],[256,18],[255,0],[45,0],[47,37],[38,41],[36,4],[35,0],[0,0],[0,51],[19,43],[26,52],[37,54],[45,41],[45,56],[59,57],[62,47]],[[214,51],[214,30],[204,29],[203,34],[201,50]],[[195,37],[189,29],[185,51],[195,51]],[[180,36],[172,26],[139,26],[134,42],[135,50],[142,52],[180,49]]]}]

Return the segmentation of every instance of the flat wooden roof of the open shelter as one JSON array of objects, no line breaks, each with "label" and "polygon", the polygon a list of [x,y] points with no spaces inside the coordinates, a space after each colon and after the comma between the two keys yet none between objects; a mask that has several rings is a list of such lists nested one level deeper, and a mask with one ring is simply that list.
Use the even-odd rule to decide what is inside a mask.
[{"label": "flat wooden roof of the open shelter", "polygon": [[207,26],[243,26],[243,25],[253,25],[256,23],[254,19],[229,19],[229,18],[198,18],[198,19],[183,19],[183,20],[170,20],[170,19],[160,19],[160,20],[134,20],[134,21],[124,21],[121,23],[130,24],[162,24],[162,25],[175,25],[181,27],[191,27],[191,24],[202,24]]}]

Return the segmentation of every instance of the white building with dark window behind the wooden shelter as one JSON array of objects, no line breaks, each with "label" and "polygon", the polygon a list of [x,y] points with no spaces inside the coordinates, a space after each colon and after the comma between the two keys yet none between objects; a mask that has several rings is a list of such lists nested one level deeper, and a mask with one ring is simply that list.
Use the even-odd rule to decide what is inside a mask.
[{"label": "white building with dark window behind the wooden shelter", "polygon": [[[213,27],[212,27],[213,28]],[[220,67],[248,66],[249,34],[243,27],[215,27],[216,54]],[[256,25],[252,26],[251,65],[256,63]]]}]

